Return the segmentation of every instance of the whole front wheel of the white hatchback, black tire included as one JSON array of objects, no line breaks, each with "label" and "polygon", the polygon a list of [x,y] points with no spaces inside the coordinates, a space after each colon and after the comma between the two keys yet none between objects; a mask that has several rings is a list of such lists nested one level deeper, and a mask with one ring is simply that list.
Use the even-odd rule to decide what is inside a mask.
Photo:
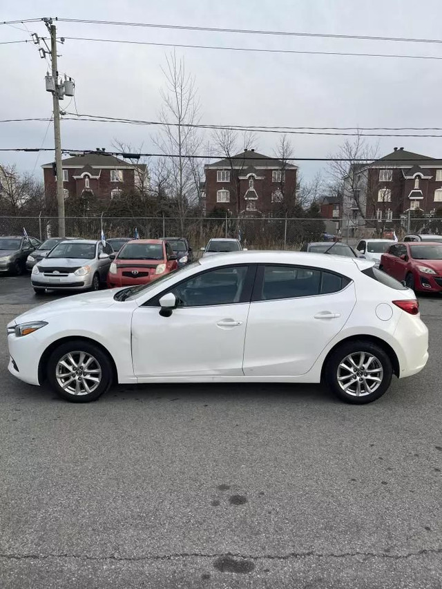
[{"label": "whole front wheel of the white hatchback, black tire included", "polygon": [[47,374],[52,389],[72,403],[96,400],[113,382],[113,369],[107,354],[83,340],[73,340],[57,347],[50,355]]}]

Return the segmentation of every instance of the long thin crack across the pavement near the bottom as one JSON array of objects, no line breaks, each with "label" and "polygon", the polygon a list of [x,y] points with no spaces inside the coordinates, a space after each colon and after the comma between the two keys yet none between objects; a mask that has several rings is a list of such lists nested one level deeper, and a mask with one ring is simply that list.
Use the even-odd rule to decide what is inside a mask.
[{"label": "long thin crack across the pavement near the bottom", "polygon": [[352,558],[352,557],[368,557],[368,558],[385,558],[385,559],[408,559],[411,557],[419,557],[425,554],[442,554],[442,548],[423,548],[417,552],[407,552],[405,554],[390,554],[388,552],[341,552],[336,554],[334,552],[321,553],[309,550],[308,552],[289,552],[288,554],[239,554],[237,552],[225,552],[220,554],[204,554],[202,552],[181,552],[176,554],[148,554],[140,557],[122,557],[117,554],[111,554],[104,557],[93,557],[88,554],[8,554],[0,553],[0,559],[6,560],[22,560],[22,559],[85,559],[90,561],[167,561],[173,559],[186,559],[186,558],[205,558],[205,559],[216,559],[220,557],[232,557],[243,560],[278,560],[284,561],[289,559],[302,559],[302,558],[321,558],[321,559],[341,559],[341,558]]}]

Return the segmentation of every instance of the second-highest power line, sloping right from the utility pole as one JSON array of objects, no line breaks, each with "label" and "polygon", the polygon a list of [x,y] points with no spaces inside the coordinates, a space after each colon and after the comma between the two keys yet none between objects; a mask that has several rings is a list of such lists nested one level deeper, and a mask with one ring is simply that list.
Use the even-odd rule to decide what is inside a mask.
[{"label": "second-highest power line, sloping right from the utility pole", "polygon": [[150,45],[157,47],[180,47],[187,49],[215,49],[224,51],[248,51],[256,53],[286,53],[296,55],[338,55],[349,57],[394,57],[398,59],[436,59],[441,60],[442,57],[436,55],[397,55],[389,53],[350,53],[342,51],[309,51],[309,50],[295,50],[295,49],[263,49],[263,48],[249,48],[249,47],[222,47],[218,45],[187,45],[182,43],[155,43],[154,41],[127,41],[124,39],[95,39],[93,37],[64,37],[70,41],[95,41],[99,43],[122,43],[128,45]]}]

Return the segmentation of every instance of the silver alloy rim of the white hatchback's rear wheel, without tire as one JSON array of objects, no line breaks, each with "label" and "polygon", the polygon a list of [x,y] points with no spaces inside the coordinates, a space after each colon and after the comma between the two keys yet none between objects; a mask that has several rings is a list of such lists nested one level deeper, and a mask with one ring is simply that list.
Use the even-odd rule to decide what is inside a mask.
[{"label": "silver alloy rim of the white hatchback's rear wheel, without tire", "polygon": [[373,354],[356,351],[339,363],[338,385],[348,395],[366,396],[374,393],[383,380],[383,366]]}]

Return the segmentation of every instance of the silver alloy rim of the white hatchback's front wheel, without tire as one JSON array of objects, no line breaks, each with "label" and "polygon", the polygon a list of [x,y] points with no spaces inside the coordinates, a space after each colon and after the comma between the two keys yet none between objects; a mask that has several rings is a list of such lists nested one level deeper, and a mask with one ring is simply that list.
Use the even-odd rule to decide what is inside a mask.
[{"label": "silver alloy rim of the white hatchback's front wheel, without tire", "polygon": [[102,381],[102,367],[98,360],[84,351],[70,351],[59,359],[55,367],[59,386],[71,395],[93,393]]}]

